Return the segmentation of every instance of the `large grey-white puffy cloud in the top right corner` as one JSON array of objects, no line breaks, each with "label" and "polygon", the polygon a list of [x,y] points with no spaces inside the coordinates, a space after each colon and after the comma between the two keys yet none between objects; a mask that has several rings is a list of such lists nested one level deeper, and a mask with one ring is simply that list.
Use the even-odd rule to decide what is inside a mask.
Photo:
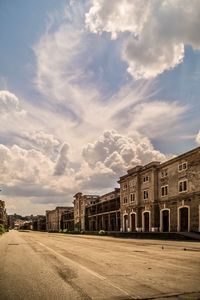
[{"label": "large grey-white puffy cloud in the top right corner", "polygon": [[152,78],[184,59],[184,45],[200,49],[198,0],[93,0],[85,18],[94,33],[126,33],[122,58],[136,79]]}]

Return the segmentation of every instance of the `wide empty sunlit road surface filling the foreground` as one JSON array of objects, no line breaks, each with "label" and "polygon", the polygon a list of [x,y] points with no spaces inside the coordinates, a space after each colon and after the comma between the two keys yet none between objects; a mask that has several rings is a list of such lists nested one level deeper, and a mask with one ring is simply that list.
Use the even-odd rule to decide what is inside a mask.
[{"label": "wide empty sunlit road surface filling the foreground", "polygon": [[200,243],[10,231],[0,299],[200,299]]}]

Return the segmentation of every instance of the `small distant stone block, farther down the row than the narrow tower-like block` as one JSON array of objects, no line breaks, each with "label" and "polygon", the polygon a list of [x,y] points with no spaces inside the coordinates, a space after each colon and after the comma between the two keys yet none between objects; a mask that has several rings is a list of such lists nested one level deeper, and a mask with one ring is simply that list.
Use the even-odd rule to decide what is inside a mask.
[{"label": "small distant stone block, farther down the row than the narrow tower-like block", "polygon": [[46,230],[59,231],[61,229],[62,213],[70,209],[68,206],[58,206],[54,210],[46,211]]}]

